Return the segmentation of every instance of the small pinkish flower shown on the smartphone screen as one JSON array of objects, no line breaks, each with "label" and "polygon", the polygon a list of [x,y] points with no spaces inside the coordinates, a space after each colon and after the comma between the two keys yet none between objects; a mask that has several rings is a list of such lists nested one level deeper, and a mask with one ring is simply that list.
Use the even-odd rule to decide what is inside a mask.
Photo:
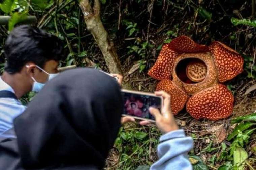
[{"label": "small pinkish flower shown on the smartphone screen", "polygon": [[143,103],[140,100],[136,100],[135,98],[131,97],[130,100],[126,100],[125,108],[128,112],[128,115],[134,115],[138,117],[142,117],[142,110]]}]

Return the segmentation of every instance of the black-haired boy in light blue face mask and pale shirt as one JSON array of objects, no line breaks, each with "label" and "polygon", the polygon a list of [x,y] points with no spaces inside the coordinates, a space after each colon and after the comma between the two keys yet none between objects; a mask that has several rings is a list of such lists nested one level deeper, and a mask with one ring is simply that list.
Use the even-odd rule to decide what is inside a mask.
[{"label": "black-haired boy in light blue face mask and pale shirt", "polygon": [[29,91],[39,92],[55,77],[64,54],[59,38],[22,25],[8,36],[4,56],[6,66],[0,78],[0,135],[13,127],[13,119],[26,109],[18,99]]}]

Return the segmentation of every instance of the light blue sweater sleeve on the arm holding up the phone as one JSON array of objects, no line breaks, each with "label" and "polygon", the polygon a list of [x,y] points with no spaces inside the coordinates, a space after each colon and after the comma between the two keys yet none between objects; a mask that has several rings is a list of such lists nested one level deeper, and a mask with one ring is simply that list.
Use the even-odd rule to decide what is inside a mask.
[{"label": "light blue sweater sleeve on the arm holding up the phone", "polygon": [[160,137],[157,147],[159,160],[150,170],[192,170],[188,152],[193,148],[193,139],[186,137],[184,130],[179,129]]}]

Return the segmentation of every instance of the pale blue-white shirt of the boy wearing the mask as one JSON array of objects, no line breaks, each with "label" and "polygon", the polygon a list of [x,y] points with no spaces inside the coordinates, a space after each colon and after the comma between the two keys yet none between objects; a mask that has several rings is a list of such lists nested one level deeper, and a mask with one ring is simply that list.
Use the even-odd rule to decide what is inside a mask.
[{"label": "pale blue-white shirt of the boy wearing the mask", "polygon": [[[15,94],[10,85],[0,77],[0,91],[10,91]],[[13,120],[26,110],[19,100],[13,98],[0,98],[0,135],[13,127]]]}]

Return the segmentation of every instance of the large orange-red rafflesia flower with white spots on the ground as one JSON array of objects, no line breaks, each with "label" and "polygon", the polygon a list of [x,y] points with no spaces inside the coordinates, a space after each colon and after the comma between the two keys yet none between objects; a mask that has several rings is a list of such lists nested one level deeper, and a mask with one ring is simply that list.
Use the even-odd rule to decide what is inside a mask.
[{"label": "large orange-red rafflesia flower with white spots on the ground", "polygon": [[148,74],[160,80],[156,90],[171,95],[173,114],[187,103],[193,118],[219,120],[231,115],[234,102],[232,93],[221,83],[241,73],[243,62],[239,53],[221,42],[207,47],[181,36],[163,45]]}]

